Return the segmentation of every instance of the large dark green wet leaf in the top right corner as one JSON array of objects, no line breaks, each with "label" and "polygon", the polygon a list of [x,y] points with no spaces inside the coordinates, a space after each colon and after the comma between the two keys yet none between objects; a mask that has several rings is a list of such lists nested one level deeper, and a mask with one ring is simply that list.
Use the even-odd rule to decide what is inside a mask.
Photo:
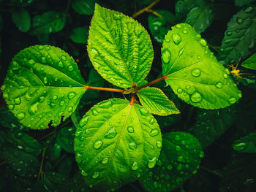
[{"label": "large dark green wet leaf in the top right corner", "polygon": [[219,58],[223,64],[235,64],[240,58],[255,52],[256,7],[245,7],[227,23]]}]

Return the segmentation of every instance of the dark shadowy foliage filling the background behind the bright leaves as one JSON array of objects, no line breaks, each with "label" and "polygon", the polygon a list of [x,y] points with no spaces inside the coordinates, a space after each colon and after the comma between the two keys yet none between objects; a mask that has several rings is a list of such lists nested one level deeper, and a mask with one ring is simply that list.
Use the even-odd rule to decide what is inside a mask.
[{"label": "dark shadowy foliage filling the background behind the bright leaves", "polygon": [[[31,45],[48,44],[72,55],[89,85],[113,88],[93,69],[86,51],[95,2],[132,17],[153,0],[0,0],[0,85],[15,54]],[[151,35],[154,47],[154,62],[146,80],[161,75],[163,37],[176,23],[194,26],[222,64],[236,65],[240,56],[244,61],[256,53],[256,13],[249,12],[251,6],[255,6],[253,0],[161,0],[138,15],[135,19]],[[238,19],[244,12],[249,12],[250,20]],[[228,34],[228,30],[233,30],[233,34]],[[242,33],[243,30],[249,36],[247,32]],[[225,44],[234,39],[238,42]],[[234,50],[232,54],[227,52],[230,49]],[[255,73],[240,65],[238,69]],[[236,78],[234,76],[234,80]],[[243,97],[223,110],[197,109],[178,99],[170,88],[165,88],[165,82],[155,85],[162,88],[181,111],[180,115],[156,116],[162,132],[192,133],[205,152],[197,174],[176,191],[256,191],[255,76],[243,76],[236,83]],[[0,191],[89,191],[75,162],[75,129],[91,106],[113,97],[123,96],[87,91],[71,118],[56,128],[34,131],[22,126],[7,110],[1,94]],[[144,190],[135,182],[118,191]]]}]

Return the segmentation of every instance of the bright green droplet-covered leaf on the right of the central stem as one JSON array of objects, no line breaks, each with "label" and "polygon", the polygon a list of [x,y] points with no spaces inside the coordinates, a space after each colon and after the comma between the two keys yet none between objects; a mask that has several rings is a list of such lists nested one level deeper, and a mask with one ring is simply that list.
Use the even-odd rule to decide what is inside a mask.
[{"label": "bright green droplet-covered leaf on the right of the central stem", "polygon": [[241,92],[208,49],[205,39],[189,26],[173,26],[162,45],[162,69],[167,85],[188,104],[219,109],[236,103]]}]

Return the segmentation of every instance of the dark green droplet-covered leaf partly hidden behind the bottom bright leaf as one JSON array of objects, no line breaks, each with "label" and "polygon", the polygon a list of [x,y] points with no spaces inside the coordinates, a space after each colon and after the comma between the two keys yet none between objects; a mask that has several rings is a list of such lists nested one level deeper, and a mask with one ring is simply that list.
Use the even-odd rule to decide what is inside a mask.
[{"label": "dark green droplet-covered leaf partly hidden behind the bottom bright leaf", "polygon": [[163,134],[157,166],[140,177],[140,184],[148,192],[173,191],[197,172],[203,155],[200,143],[191,134]]}]

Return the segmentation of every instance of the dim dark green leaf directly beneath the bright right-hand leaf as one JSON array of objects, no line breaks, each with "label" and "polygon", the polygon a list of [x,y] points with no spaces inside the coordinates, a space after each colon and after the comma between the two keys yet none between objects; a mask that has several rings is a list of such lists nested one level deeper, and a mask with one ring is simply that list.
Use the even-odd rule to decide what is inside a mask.
[{"label": "dim dark green leaf directly beneath the bright right-hand leaf", "polygon": [[211,145],[230,128],[236,118],[237,105],[222,110],[197,110],[195,124],[189,129],[203,148]]}]

